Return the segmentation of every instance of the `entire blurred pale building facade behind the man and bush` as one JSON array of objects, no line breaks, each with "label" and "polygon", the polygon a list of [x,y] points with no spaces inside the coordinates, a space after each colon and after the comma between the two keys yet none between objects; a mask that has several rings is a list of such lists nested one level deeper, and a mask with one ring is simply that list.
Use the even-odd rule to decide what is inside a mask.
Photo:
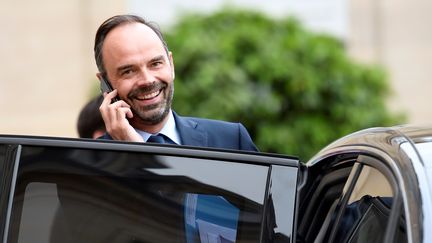
[{"label": "entire blurred pale building facade behind the man and bush", "polygon": [[[168,28],[182,11],[211,12],[229,1],[88,0],[0,3],[0,134],[77,137],[79,110],[97,85],[94,34],[106,18],[137,13]],[[343,39],[351,56],[390,74],[389,106],[410,123],[431,124],[432,1],[233,0],[272,16],[297,15]]]}]

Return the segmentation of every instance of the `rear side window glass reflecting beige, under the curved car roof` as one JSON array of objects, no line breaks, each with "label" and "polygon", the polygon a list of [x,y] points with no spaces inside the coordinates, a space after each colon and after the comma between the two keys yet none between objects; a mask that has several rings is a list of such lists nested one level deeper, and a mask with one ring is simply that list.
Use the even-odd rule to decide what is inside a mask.
[{"label": "rear side window glass reflecting beige, under the curved car roof", "polygon": [[[387,178],[377,169],[364,165],[344,208],[335,242],[383,242],[393,199]],[[405,242],[403,222],[397,227],[397,242]]]}]

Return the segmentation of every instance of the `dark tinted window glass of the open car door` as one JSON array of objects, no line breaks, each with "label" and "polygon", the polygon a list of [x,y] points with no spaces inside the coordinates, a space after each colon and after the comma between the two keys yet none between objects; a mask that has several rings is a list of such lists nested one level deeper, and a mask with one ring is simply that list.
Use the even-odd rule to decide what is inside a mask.
[{"label": "dark tinted window glass of the open car door", "polygon": [[8,242],[257,242],[268,170],[24,147]]}]

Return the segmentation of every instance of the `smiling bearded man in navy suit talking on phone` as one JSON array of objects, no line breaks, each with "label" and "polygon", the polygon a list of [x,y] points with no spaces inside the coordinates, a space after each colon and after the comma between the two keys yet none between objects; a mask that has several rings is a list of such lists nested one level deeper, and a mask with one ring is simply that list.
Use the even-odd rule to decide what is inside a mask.
[{"label": "smiling bearded man in navy suit talking on phone", "polygon": [[[114,89],[104,93],[102,138],[257,151],[239,123],[181,117],[171,110],[173,55],[158,28],[135,15],[106,20],[95,38],[97,77]],[[116,100],[118,99],[118,100]],[[153,136],[152,136],[153,135]]]}]

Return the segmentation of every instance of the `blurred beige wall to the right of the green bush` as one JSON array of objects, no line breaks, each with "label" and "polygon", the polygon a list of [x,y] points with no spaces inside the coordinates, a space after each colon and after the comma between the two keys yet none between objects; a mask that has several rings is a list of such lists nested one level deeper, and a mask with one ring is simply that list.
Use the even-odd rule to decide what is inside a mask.
[{"label": "blurred beige wall to the right of the green bush", "polygon": [[432,124],[432,1],[350,1],[351,56],[388,70],[391,109],[410,123]]}]

